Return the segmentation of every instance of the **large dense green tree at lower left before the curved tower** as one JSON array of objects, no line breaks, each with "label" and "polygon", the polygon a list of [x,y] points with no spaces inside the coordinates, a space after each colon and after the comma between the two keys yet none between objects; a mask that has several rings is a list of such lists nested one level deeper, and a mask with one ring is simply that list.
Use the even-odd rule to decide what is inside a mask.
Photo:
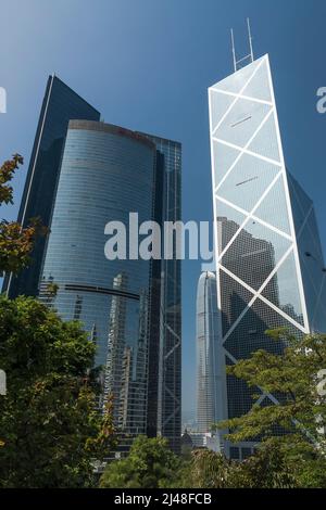
[{"label": "large dense green tree at lower left before the curved tower", "polygon": [[97,407],[95,345],[32,297],[0,296],[0,486],[84,487],[115,444]]}]

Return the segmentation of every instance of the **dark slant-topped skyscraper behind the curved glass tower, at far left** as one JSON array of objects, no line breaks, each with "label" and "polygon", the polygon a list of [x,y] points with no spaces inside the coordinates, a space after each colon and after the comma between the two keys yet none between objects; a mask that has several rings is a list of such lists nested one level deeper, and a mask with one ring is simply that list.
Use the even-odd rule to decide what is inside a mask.
[{"label": "dark slant-topped skyscraper behind the curved glass tower, at far left", "polygon": [[[40,217],[50,227],[51,212],[60,171],[62,149],[71,118],[99,120],[100,113],[57,76],[49,76],[17,221],[26,227],[30,218]],[[38,294],[46,239],[36,240],[33,264],[18,276],[7,275],[2,291],[9,297]]]}]

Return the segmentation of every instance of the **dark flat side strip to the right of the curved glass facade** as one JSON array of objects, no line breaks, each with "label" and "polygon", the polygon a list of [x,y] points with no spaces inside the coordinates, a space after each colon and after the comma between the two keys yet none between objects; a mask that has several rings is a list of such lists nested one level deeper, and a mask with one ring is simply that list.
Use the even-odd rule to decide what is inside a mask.
[{"label": "dark flat side strip to the right of the curved glass facade", "polygon": [[[181,219],[181,145],[151,135],[156,148],[153,218]],[[163,228],[162,228],[163,231]],[[175,247],[175,246],[174,246]],[[148,435],[155,431],[179,452],[181,436],[181,263],[152,262]],[[156,371],[159,367],[159,373]],[[159,378],[158,378],[159,375]]]}]

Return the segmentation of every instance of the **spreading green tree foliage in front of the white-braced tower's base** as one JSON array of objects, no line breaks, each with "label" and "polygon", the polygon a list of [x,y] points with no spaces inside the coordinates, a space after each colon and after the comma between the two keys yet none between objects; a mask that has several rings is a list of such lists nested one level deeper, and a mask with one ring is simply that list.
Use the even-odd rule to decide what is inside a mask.
[{"label": "spreading green tree foliage in front of the white-braced tower's base", "polygon": [[[280,355],[255,352],[251,358],[228,368],[228,373],[243,379],[251,387],[278,395],[279,405],[261,407],[240,418],[220,423],[229,429],[229,439],[237,443],[256,435],[273,436],[276,426],[304,443],[318,445],[325,451],[326,399],[317,392],[318,372],[326,369],[326,335],[311,334],[302,339],[285,330],[268,332],[275,342],[285,342]],[[326,452],[326,451],[325,451]]]}]

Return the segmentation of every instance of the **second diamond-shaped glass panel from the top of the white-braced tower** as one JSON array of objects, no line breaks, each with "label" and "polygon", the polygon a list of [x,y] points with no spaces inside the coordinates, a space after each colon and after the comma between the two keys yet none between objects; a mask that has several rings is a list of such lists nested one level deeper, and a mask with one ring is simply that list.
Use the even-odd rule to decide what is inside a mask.
[{"label": "second diamond-shaped glass panel from the top of the white-braced tower", "polygon": [[272,163],[243,154],[217,193],[238,207],[251,212],[279,170]]}]

